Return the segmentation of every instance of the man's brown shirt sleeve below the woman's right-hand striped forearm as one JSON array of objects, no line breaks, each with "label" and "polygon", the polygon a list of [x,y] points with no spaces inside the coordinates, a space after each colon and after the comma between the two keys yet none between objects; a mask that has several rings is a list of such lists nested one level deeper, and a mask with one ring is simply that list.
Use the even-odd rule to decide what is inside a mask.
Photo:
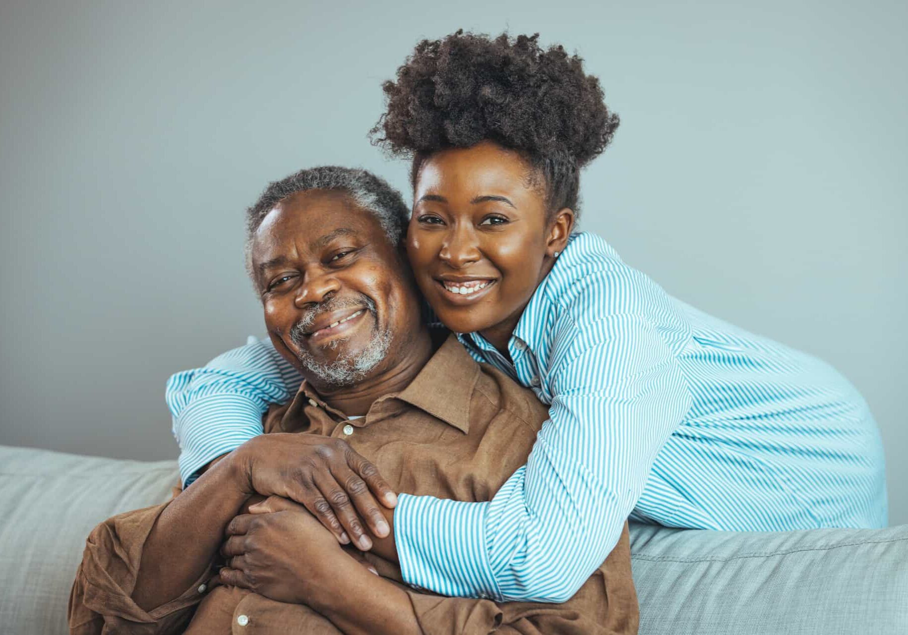
[{"label": "man's brown shirt sleeve below the woman's right-hand striped forearm", "polygon": [[407,591],[425,635],[633,635],[637,593],[630,577],[627,523],[615,549],[570,600],[561,604],[447,598]]}]

